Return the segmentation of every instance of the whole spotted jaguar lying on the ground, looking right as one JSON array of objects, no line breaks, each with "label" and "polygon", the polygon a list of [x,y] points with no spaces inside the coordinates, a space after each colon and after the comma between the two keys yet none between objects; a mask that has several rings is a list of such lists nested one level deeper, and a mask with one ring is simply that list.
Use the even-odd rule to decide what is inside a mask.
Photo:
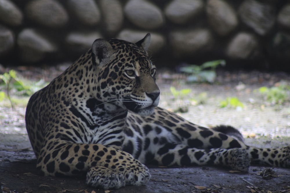
[{"label": "whole spotted jaguar lying on the ground, looking right", "polygon": [[97,39],[31,96],[25,120],[40,175],[83,175],[108,190],[146,184],[144,164],[289,168],[289,146],[253,148],[231,126],[204,128],[157,107],[149,44],[150,34],[137,43]]}]

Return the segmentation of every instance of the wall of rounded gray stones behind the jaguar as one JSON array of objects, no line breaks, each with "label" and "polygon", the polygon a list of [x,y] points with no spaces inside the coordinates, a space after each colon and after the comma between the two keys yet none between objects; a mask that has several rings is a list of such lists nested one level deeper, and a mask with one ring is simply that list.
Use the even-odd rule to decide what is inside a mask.
[{"label": "wall of rounded gray stones behind the jaguar", "polygon": [[4,65],[75,60],[96,38],[136,42],[147,32],[160,65],[290,68],[289,1],[0,0]]}]

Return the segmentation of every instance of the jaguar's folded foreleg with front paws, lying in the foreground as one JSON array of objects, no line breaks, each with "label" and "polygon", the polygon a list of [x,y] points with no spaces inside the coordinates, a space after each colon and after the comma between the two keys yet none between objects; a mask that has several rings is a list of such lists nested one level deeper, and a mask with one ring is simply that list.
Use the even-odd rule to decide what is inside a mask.
[{"label": "jaguar's folded foreleg with front paws, lying in the foreground", "polygon": [[146,166],[129,153],[113,147],[62,141],[46,144],[37,160],[41,175],[75,176],[89,170],[86,183],[104,189],[120,188],[125,184],[143,185],[150,179]]}]

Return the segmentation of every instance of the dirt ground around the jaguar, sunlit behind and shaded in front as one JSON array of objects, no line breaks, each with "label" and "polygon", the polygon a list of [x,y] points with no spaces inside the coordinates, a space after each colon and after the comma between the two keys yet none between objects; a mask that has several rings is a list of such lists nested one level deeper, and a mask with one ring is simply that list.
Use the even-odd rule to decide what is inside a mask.
[{"label": "dirt ground around the jaguar, sunlit behind and shaded in front", "polygon": [[[21,67],[23,77],[50,81],[66,65],[35,69]],[[187,84],[180,74],[160,70],[157,84],[162,91],[160,106],[175,110],[187,106],[182,117],[202,126],[229,124],[238,128],[246,144],[256,147],[288,146],[290,139],[290,105],[272,105],[255,90],[271,87],[284,81],[290,83],[287,73],[257,71],[218,71],[214,84]],[[190,88],[189,96],[174,99],[169,88]],[[199,101],[199,94],[206,96]],[[238,97],[243,109],[219,108],[226,97]],[[189,100],[194,98],[196,100]],[[197,101],[197,102],[196,102]],[[25,106],[11,110],[0,105],[0,182],[1,192],[290,192],[290,169],[251,166],[248,173],[229,171],[218,167],[164,168],[149,166],[150,181],[144,186],[126,186],[119,190],[98,190],[85,185],[85,179],[40,177],[36,175],[33,154],[24,122]]]}]

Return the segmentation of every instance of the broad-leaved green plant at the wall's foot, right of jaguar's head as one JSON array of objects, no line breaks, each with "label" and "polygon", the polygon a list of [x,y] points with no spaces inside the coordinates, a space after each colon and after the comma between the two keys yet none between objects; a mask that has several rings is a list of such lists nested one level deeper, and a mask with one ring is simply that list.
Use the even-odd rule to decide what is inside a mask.
[{"label": "broad-leaved green plant at the wall's foot, right of jaguar's head", "polygon": [[[218,65],[226,65],[225,60],[214,60],[205,62],[202,65],[189,65],[181,67],[180,71],[188,73],[189,76],[186,78],[188,82],[214,82],[216,78],[215,69]],[[210,68],[209,70],[206,70]]]}]

